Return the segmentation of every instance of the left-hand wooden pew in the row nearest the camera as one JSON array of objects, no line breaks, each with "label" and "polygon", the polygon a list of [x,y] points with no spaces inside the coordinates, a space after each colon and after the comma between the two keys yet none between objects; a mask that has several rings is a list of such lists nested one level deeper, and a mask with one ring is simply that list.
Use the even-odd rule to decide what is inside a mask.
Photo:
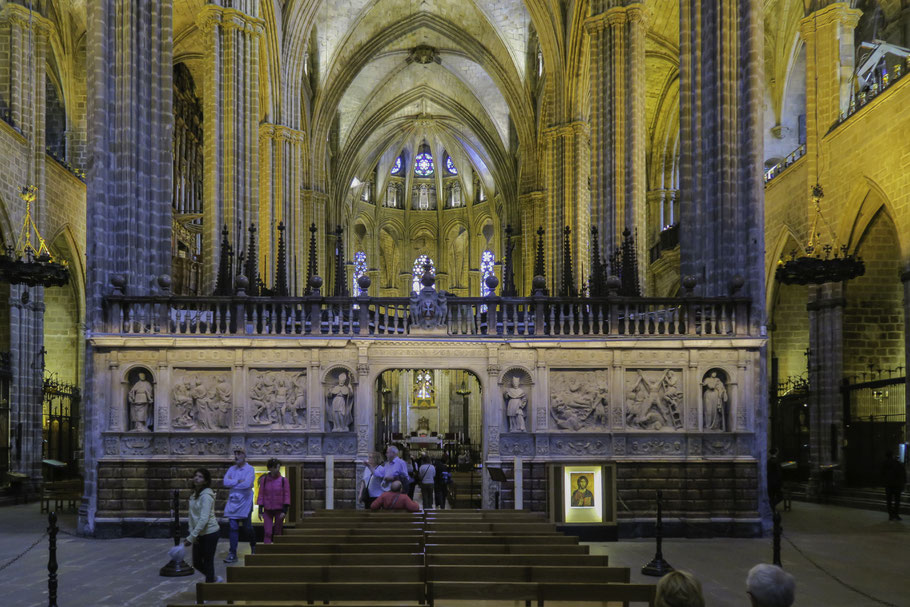
[{"label": "left-hand wooden pew in the row nearest the camera", "polygon": [[423,582],[229,582],[196,584],[196,602],[205,601],[368,601],[424,603]]}]

